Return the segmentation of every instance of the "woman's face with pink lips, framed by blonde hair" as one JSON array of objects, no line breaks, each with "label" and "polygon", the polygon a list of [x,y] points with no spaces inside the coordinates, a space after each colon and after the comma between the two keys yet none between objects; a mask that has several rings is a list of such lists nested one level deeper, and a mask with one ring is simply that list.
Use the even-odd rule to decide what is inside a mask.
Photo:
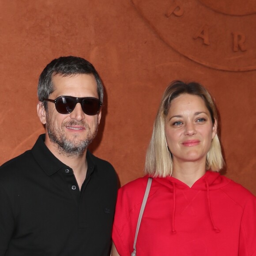
[{"label": "woman's face with pink lips, framed by blonde hair", "polygon": [[166,117],[166,141],[173,164],[205,162],[217,132],[204,101],[197,95],[181,94],[171,102]]}]

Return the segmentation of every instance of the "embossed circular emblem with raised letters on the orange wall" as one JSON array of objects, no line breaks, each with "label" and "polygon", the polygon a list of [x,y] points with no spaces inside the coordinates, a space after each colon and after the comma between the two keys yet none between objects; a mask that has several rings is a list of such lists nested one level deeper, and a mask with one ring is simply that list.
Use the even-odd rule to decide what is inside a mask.
[{"label": "embossed circular emblem with raised letters on the orange wall", "polygon": [[256,1],[132,0],[158,37],[210,68],[256,70]]}]

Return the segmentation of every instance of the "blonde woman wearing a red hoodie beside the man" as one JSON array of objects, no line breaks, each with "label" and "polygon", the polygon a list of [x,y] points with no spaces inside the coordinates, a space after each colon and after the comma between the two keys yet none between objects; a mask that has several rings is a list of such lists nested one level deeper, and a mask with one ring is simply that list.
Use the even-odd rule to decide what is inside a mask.
[{"label": "blonde woman wearing a red hoodie beside the man", "polygon": [[112,256],[130,256],[148,178],[137,256],[256,256],[256,197],[219,175],[217,112],[198,83],[166,89],[147,150],[146,176],[118,193]]}]

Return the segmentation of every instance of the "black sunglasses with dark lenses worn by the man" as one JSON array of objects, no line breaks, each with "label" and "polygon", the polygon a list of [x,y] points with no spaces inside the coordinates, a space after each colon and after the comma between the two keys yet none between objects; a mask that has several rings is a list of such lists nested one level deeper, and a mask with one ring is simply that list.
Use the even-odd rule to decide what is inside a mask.
[{"label": "black sunglasses with dark lenses worn by the man", "polygon": [[93,97],[76,98],[72,96],[60,96],[55,100],[43,98],[43,101],[53,102],[55,104],[56,110],[60,114],[69,114],[74,109],[77,103],[80,103],[83,112],[89,116],[96,115],[102,105],[102,102]]}]

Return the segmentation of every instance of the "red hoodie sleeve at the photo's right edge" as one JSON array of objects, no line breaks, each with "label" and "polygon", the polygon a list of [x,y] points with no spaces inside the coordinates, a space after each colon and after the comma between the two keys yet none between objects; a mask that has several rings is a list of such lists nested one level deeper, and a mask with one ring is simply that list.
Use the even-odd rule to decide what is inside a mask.
[{"label": "red hoodie sleeve at the photo's right edge", "polygon": [[256,256],[256,197],[245,204],[240,229],[239,256]]}]

